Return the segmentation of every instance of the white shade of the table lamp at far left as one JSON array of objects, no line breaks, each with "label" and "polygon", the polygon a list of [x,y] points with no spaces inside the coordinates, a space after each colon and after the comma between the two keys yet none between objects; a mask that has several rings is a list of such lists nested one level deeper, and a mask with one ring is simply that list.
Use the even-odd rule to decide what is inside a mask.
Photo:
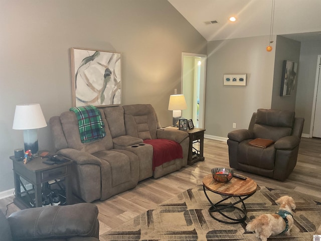
[{"label": "white shade of the table lamp at far left", "polygon": [[32,130],[47,127],[40,104],[16,105],[13,129]]}]

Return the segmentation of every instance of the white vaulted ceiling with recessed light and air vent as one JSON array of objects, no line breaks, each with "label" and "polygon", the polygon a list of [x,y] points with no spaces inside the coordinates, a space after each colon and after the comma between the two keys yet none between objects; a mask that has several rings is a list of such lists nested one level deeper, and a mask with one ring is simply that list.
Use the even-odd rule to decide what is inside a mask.
[{"label": "white vaulted ceiling with recessed light and air vent", "polygon": [[[272,0],[168,1],[207,41],[270,34]],[[321,41],[321,0],[275,0],[273,35]]]}]

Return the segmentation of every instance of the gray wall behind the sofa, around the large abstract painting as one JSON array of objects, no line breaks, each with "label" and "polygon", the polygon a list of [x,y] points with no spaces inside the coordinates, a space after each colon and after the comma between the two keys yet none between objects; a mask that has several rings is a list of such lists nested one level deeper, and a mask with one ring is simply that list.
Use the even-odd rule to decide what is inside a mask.
[{"label": "gray wall behind the sofa, around the large abstract painting", "polygon": [[[206,40],[166,0],[0,0],[0,192],[14,187],[15,106],[40,103],[47,122],[72,105],[70,48],[122,53],[122,104],[151,103],[163,126],[182,52],[206,54]],[[26,116],[28,118],[28,116]],[[52,150],[50,128],[39,148]]]}]

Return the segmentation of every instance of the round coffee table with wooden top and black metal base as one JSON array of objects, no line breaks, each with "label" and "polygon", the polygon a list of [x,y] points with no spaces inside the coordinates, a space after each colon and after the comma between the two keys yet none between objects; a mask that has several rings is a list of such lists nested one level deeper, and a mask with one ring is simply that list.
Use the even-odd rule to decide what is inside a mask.
[{"label": "round coffee table with wooden top and black metal base", "polygon": [[[229,182],[226,182],[226,183],[215,181],[213,179],[212,174],[209,174],[203,178],[203,190],[206,198],[209,200],[209,202],[212,205],[209,208],[209,213],[214,219],[224,223],[235,224],[235,223],[240,223],[245,221],[246,207],[244,204],[244,200],[252,196],[256,192],[256,188],[257,188],[257,184],[251,178],[242,180],[242,179],[233,177]],[[211,192],[214,192],[226,197],[224,197],[221,201],[218,201],[217,203],[213,203],[209,198],[208,194],[206,193],[206,190],[209,190]],[[238,197],[238,200],[235,202],[231,201],[230,203],[222,203],[225,200],[232,197]],[[235,206],[240,202],[242,203],[241,207],[243,208],[239,208]],[[226,214],[226,211],[228,211],[227,209],[231,209],[231,208],[240,210],[242,213],[241,217],[234,218],[234,217],[231,217],[231,215],[228,216]],[[225,209],[225,213],[223,213],[224,209]],[[222,219],[223,217],[219,218],[218,216],[220,217],[223,216],[225,218],[223,220]]]}]

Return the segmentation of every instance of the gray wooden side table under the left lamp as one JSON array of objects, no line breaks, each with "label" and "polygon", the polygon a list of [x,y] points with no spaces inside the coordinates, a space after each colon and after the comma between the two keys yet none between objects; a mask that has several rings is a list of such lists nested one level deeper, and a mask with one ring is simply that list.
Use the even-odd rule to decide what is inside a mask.
[{"label": "gray wooden side table under the left lamp", "polygon": [[[42,188],[48,181],[55,179],[65,179],[66,204],[71,204],[71,188],[69,177],[71,175],[72,161],[62,164],[48,165],[43,163],[44,159],[40,157],[24,164],[22,160],[16,160],[14,156],[10,159],[13,161],[13,171],[15,179],[16,197],[14,203],[21,209],[32,207],[30,201],[35,198],[35,207],[42,206]],[[21,178],[32,184],[32,189],[27,189]],[[21,190],[23,188],[23,190]]]}]

